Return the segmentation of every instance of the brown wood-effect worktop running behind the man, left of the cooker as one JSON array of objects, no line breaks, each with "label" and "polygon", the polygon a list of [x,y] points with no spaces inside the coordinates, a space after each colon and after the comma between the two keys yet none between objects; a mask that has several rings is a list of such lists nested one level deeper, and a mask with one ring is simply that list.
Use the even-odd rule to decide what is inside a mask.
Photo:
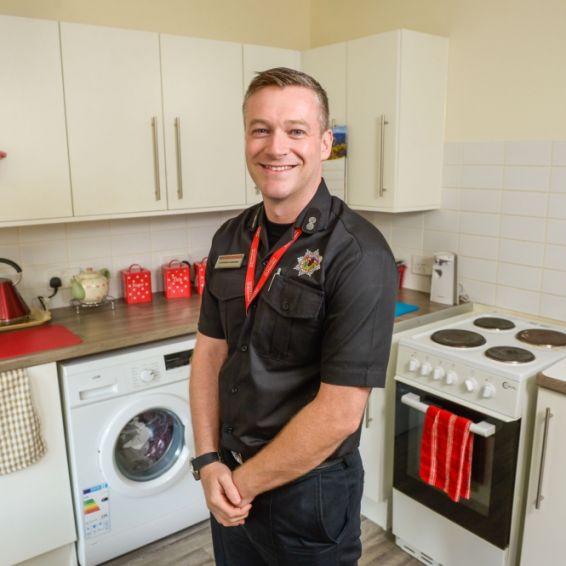
[{"label": "brown wood-effect worktop running behind the man, left of the cooker", "polygon": [[[429,295],[420,291],[403,289],[398,300],[419,306],[419,310],[396,319],[395,331],[428,324],[472,309],[470,303],[450,307],[431,303]],[[166,300],[162,293],[153,296],[152,303],[127,305],[122,299],[102,307],[81,309],[74,307],[54,309],[51,323],[61,324],[82,339],[82,343],[68,348],[45,350],[16,358],[0,360],[0,371],[30,367],[49,362],[87,356],[155,342],[165,338],[196,332],[200,296],[188,299]],[[15,331],[17,332],[17,331]]]}]

